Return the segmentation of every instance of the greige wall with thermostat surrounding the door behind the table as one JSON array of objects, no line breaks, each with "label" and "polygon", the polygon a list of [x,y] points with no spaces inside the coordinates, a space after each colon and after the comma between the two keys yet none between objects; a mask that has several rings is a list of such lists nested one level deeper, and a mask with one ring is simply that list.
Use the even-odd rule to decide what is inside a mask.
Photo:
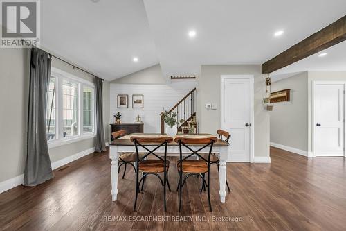
[{"label": "greige wall with thermostat surrounding the door behind the table", "polygon": [[[201,76],[197,78],[197,122],[199,132],[216,134],[220,121],[221,75],[251,74],[255,76],[255,157],[269,157],[270,121],[262,98],[265,92],[261,65],[202,65]],[[217,103],[217,110],[206,110],[205,103]]]}]

